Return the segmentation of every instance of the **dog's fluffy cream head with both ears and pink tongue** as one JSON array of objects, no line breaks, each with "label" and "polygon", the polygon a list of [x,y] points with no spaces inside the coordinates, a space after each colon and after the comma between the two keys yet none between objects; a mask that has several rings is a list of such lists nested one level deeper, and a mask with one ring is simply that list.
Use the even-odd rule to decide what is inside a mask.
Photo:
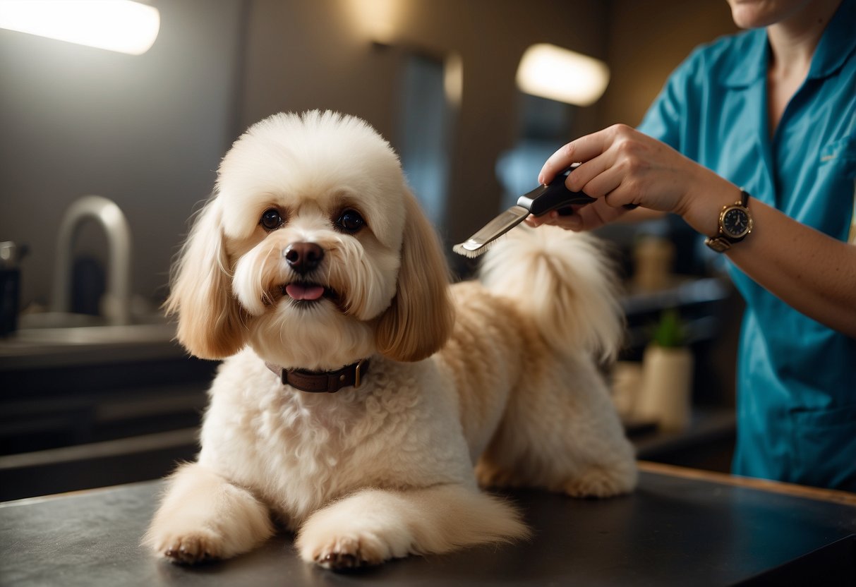
[{"label": "dog's fluffy cream head with both ears and pink tongue", "polygon": [[437,236],[376,131],[278,114],[223,157],[173,268],[167,311],[204,359],[249,344],[286,367],[423,359],[453,322]]}]

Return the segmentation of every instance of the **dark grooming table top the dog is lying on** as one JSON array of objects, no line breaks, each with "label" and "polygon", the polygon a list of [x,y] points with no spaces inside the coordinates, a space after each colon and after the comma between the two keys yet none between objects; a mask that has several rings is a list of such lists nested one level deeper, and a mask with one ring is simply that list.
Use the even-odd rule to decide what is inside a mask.
[{"label": "dark grooming table top the dog is lying on", "polygon": [[156,560],[139,542],[161,488],[135,483],[0,504],[0,584],[659,587],[805,584],[806,577],[809,584],[856,584],[856,500],[809,498],[657,466],[643,469],[633,495],[609,500],[509,494],[535,530],[526,543],[411,557],[348,574],[306,565],[288,535],[206,566]]}]

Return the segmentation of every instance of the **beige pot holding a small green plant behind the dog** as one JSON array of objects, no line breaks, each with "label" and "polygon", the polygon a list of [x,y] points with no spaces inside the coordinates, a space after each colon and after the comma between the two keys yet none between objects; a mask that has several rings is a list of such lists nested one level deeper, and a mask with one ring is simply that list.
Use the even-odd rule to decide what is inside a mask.
[{"label": "beige pot holding a small green plant behind the dog", "polygon": [[692,386],[693,353],[689,348],[649,345],[642,357],[637,417],[655,420],[663,430],[686,430]]}]

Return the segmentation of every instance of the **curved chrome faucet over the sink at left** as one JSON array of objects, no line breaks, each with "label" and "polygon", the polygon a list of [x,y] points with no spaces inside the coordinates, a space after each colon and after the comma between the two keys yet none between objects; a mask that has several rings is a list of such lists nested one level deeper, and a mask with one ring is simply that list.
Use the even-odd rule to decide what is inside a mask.
[{"label": "curved chrome faucet over the sink at left", "polygon": [[131,230],[128,220],[116,203],[102,196],[83,196],[74,201],[62,216],[56,240],[56,271],[54,271],[51,311],[70,311],[71,251],[74,232],[80,222],[92,218],[107,235],[107,291],[101,300],[101,311],[111,324],[131,321]]}]

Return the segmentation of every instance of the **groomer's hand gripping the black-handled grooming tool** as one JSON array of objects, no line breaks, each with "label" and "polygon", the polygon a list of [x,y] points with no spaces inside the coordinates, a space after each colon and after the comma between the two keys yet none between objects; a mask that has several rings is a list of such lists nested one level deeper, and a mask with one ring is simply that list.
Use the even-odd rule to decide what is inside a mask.
[{"label": "groomer's hand gripping the black-handled grooming tool", "polygon": [[553,212],[538,218],[530,216],[526,222],[532,226],[556,224],[571,230],[591,230],[627,214],[623,206],[629,204],[679,214],[700,232],[709,230],[709,234],[716,234],[716,215],[710,216],[711,222],[704,214],[708,208],[719,210],[730,202],[720,202],[721,198],[717,198],[697,206],[695,200],[704,198],[704,187],[710,184],[716,185],[715,193],[727,191],[728,199],[734,194],[734,187],[710,169],[623,124],[564,145],[544,163],[538,181],[549,182],[562,169],[577,162],[582,163],[568,175],[565,185],[597,201],[578,207],[570,216]]}]

